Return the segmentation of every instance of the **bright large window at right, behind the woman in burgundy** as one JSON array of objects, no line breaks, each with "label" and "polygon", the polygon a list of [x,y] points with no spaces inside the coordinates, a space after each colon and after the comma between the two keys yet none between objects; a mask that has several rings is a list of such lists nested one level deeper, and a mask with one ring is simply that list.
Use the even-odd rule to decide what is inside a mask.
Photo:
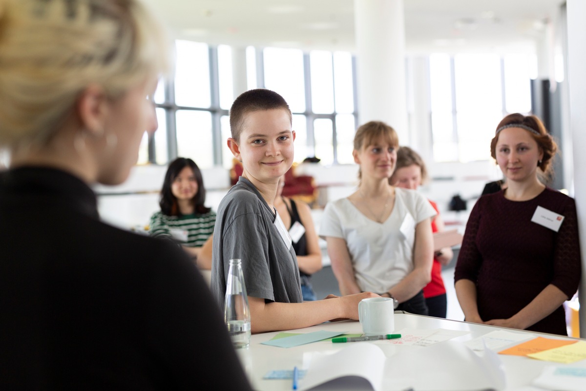
[{"label": "bright large window at right, behind the woman in burgundy", "polygon": [[490,159],[490,140],[509,113],[529,113],[530,59],[525,55],[430,56],[435,161]]}]

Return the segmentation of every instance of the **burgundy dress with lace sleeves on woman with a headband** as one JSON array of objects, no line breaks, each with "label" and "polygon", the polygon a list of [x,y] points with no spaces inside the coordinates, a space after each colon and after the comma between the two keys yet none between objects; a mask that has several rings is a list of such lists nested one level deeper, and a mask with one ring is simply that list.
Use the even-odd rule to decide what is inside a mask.
[{"label": "burgundy dress with lace sleeves on woman with a headband", "polygon": [[[565,217],[558,232],[531,221],[537,206]],[[571,298],[580,272],[574,199],[546,188],[531,200],[512,201],[500,191],[482,196],[472,209],[454,282],[476,284],[478,312],[488,321],[512,317],[548,284]],[[527,329],[567,335],[564,308]]]}]

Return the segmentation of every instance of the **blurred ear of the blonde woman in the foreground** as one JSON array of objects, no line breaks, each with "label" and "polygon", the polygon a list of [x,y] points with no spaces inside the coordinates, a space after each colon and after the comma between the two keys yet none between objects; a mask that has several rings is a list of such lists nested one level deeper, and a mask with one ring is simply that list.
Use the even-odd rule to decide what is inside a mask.
[{"label": "blurred ear of the blonde woman in the foreground", "polygon": [[77,98],[77,113],[83,129],[91,135],[104,135],[107,97],[102,87],[90,84]]}]

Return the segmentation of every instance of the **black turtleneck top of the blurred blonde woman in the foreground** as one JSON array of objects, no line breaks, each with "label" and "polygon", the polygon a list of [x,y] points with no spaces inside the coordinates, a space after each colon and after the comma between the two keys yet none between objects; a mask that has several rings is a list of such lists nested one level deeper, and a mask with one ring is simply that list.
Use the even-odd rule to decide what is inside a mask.
[{"label": "black turtleneck top of the blurred blonde woman in the foreground", "polygon": [[0,174],[0,389],[250,390],[177,246],[98,220],[51,168]]}]

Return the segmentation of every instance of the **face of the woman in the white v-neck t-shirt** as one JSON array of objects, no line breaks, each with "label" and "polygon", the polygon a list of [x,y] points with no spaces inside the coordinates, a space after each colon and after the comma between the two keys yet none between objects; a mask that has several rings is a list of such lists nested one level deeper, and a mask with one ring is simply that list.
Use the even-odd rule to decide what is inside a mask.
[{"label": "face of the woman in the white v-neck t-shirt", "polygon": [[355,149],[352,154],[354,161],[360,165],[362,178],[389,178],[397,162],[396,146],[383,138],[374,140],[371,145],[364,145],[359,151]]}]

